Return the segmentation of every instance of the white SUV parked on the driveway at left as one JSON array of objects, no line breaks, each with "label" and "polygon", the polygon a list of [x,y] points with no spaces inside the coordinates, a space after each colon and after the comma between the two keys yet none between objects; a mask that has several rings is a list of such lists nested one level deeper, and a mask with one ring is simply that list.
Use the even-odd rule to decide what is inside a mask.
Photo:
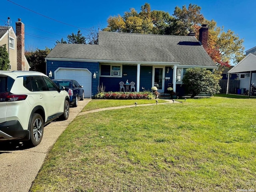
[{"label": "white SUV parked on the driveway at left", "polygon": [[0,141],[29,140],[37,146],[45,124],[68,116],[68,92],[45,74],[0,71]]}]

